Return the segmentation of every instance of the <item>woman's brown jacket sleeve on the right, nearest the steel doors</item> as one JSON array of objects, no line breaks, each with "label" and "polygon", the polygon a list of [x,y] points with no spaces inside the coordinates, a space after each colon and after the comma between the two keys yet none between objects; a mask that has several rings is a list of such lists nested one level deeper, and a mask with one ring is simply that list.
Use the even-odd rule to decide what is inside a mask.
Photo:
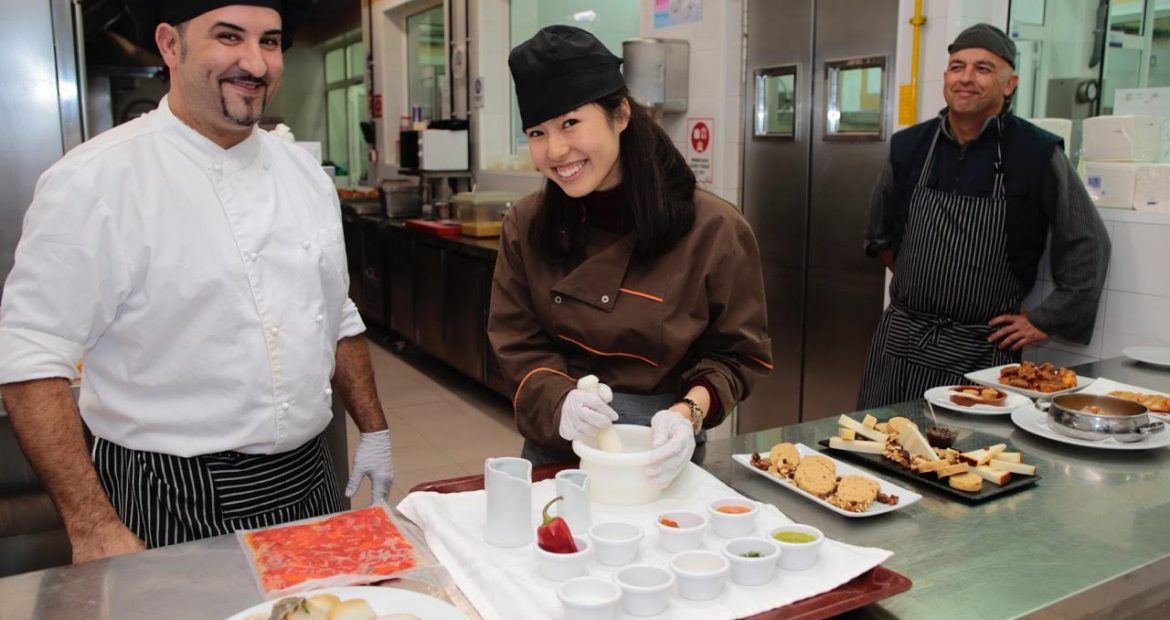
[{"label": "woman's brown jacket sleeve on the right, nearest the steel doors", "polygon": [[756,381],[772,370],[759,249],[748,223],[742,219],[732,221],[736,233],[728,237],[728,253],[707,275],[711,321],[693,347],[698,363],[682,374],[683,383],[702,378],[714,388],[721,411],[704,420],[708,428],[721,423],[727,412],[748,398]]}]

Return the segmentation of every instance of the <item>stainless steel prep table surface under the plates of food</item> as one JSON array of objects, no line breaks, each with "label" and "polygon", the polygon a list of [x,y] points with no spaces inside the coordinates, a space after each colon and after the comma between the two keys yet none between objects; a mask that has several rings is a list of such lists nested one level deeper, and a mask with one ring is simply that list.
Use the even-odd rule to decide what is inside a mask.
[{"label": "stainless steel prep table surface under the plates of food", "polygon": [[[1079,371],[1170,392],[1170,372],[1129,361],[1106,360]],[[920,407],[921,401],[890,409]],[[975,507],[916,489],[924,497],[906,510],[848,519],[730,460],[779,441],[815,445],[835,430],[835,418],[713,441],[704,467],[833,538],[894,550],[886,565],[913,579],[914,587],[854,612],[856,618],[1131,616],[1149,608],[1164,616],[1170,606],[1170,588],[1164,587],[1170,576],[1170,450],[1078,448],[1032,436],[1007,416],[940,412],[940,418],[1010,439],[1042,480]],[[413,526],[404,524],[417,538]],[[446,595],[477,618],[441,566],[405,585]],[[226,618],[259,602],[260,595],[235,538],[220,537],[0,579],[0,600],[5,620],[183,620]]]}]

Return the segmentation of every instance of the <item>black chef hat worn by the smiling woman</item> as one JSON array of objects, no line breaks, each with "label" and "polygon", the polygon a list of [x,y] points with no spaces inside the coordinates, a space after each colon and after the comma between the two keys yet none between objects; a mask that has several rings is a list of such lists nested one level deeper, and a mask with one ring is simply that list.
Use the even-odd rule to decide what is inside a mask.
[{"label": "black chef hat worn by the smiling woman", "polygon": [[626,85],[621,58],[592,34],[548,26],[508,55],[524,129],[597,101]]}]

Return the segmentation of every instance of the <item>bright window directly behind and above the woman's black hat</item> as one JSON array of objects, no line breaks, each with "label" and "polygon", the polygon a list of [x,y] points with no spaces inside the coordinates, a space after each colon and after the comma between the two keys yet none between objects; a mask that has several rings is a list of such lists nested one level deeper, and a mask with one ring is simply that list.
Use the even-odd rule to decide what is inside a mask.
[{"label": "bright window directly behind and above the woman's black hat", "polygon": [[[565,25],[589,30],[615,56],[621,56],[621,42],[638,36],[641,2],[632,0],[511,0],[511,44],[531,39],[545,26]],[[516,106],[516,84],[508,81],[511,94],[511,153],[528,149],[528,137],[521,126]],[[524,157],[528,157],[526,154]]]}]

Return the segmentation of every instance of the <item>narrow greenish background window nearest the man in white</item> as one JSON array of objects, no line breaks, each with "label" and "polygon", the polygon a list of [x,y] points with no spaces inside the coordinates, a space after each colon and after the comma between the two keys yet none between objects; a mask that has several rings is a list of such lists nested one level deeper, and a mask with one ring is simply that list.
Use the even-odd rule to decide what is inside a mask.
[{"label": "narrow greenish background window nearest the man in white", "polygon": [[365,179],[369,164],[359,123],[365,119],[365,47],[360,32],[340,37],[325,50],[325,158],[347,175],[350,185]]}]

